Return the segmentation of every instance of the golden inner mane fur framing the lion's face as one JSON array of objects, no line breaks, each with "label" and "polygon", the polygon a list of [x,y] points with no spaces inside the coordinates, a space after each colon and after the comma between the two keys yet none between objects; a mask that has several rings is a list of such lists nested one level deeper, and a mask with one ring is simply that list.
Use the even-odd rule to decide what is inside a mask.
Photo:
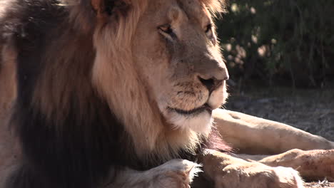
[{"label": "golden inner mane fur framing the lion's face", "polygon": [[[93,66],[92,79],[99,93],[103,98],[107,98],[110,107],[115,109],[116,116],[124,122],[126,130],[130,132],[133,140],[136,140],[136,150],[139,153],[156,151],[161,157],[168,159],[173,157],[171,154],[175,153],[180,145],[186,145],[188,150],[193,151],[198,145],[198,134],[191,130],[178,132],[166,129],[164,125],[166,122],[161,119],[159,113],[156,113],[158,111],[156,103],[152,103],[152,99],[148,98],[147,93],[151,91],[143,87],[147,83],[143,83],[145,81],[141,78],[142,72],[138,71],[140,68],[133,64],[131,49],[134,38],[138,38],[135,36],[138,22],[147,6],[153,9],[152,6],[156,6],[157,2],[148,5],[148,1],[144,0],[131,1],[128,5],[131,6],[128,8],[131,11],[126,15],[123,15],[122,11],[116,12],[115,18],[112,19],[113,23],[106,23],[106,19],[100,16],[101,20],[98,20],[98,26],[94,31],[96,63]],[[218,1],[202,1],[202,3],[213,12],[222,10],[222,4]],[[143,40],[146,38],[141,38],[140,43],[136,45],[143,45],[145,43]],[[113,45],[108,41],[113,41]],[[110,59],[113,61],[110,62]],[[147,66],[150,63],[153,62],[147,62]],[[123,73],[127,76],[124,77]],[[121,81],[119,78],[122,78]],[[118,92],[113,88],[118,88]],[[131,115],[128,109],[131,109]],[[146,139],[143,140],[143,137]],[[175,151],[171,152],[173,148]]]}]

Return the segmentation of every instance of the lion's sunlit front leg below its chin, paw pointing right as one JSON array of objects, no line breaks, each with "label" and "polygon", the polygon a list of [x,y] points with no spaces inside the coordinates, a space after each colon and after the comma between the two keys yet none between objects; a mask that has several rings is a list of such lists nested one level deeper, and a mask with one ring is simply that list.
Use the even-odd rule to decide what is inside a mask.
[{"label": "lion's sunlit front leg below its chin, paw pointing right", "polygon": [[217,188],[303,187],[298,172],[292,168],[269,167],[214,150],[206,150],[202,162],[205,176]]}]

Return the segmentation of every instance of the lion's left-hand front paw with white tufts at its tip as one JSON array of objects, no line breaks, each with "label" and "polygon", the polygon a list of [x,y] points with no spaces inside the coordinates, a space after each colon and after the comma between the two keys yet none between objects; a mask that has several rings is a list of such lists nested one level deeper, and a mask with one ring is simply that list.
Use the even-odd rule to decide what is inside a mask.
[{"label": "lion's left-hand front paw with white tufts at its tip", "polygon": [[153,169],[152,187],[188,188],[201,172],[200,164],[188,160],[171,160]]}]

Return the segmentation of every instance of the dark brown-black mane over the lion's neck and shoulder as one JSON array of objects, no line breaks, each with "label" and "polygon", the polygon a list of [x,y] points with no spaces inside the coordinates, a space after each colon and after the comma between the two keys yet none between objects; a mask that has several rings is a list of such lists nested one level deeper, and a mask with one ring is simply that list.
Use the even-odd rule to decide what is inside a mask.
[{"label": "dark brown-black mane over the lion's neck and shoulder", "polygon": [[[24,161],[11,188],[98,187],[111,166],[133,161],[124,155],[131,151],[119,147],[131,145],[123,126],[91,86],[92,33],[75,27],[69,8],[58,3],[13,2],[1,21],[3,39],[19,54],[12,125]],[[49,90],[39,90],[41,79]],[[39,104],[56,109],[46,112]]]}]

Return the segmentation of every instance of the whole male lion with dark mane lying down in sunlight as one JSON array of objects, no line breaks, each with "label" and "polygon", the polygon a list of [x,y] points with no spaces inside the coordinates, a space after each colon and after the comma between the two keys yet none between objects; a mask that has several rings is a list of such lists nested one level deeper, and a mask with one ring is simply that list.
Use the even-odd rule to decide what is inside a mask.
[{"label": "whole male lion with dark mane lying down in sunlight", "polygon": [[[298,168],[334,177],[333,143],[306,132],[277,128],[310,143],[300,149],[325,150],[235,155],[221,139],[239,147],[228,137],[277,127],[218,110],[229,75],[213,16],[224,1],[0,4],[0,187],[181,188],[199,186],[196,176],[215,187],[303,187]],[[234,125],[253,130],[227,131]],[[275,153],[254,142],[240,151]]]}]

